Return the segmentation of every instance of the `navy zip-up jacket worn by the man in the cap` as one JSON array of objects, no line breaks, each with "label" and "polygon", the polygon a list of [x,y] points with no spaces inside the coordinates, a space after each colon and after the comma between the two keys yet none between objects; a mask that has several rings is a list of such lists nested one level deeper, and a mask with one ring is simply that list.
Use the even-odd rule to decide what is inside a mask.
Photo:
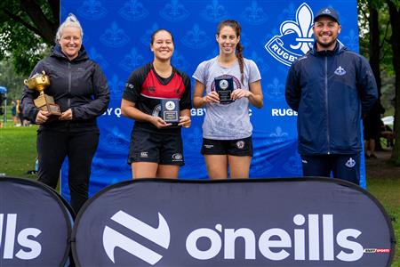
[{"label": "navy zip-up jacket worn by the man in the cap", "polygon": [[362,150],[361,118],[378,99],[365,58],[336,44],[292,63],[285,97],[298,112],[300,155],[356,154]]}]

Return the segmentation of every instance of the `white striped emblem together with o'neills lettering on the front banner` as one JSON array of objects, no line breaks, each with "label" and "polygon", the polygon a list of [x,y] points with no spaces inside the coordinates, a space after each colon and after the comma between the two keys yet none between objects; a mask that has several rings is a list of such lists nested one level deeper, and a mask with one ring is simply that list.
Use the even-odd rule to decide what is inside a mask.
[{"label": "white striped emblem together with o'neills lettering on the front banner", "polygon": [[[123,211],[117,212],[111,219],[160,247],[167,249],[170,245],[169,226],[162,214],[158,213],[157,228]],[[363,233],[357,229],[334,229],[333,214],[296,214],[292,222],[293,229],[271,228],[261,232],[260,236],[256,236],[250,228],[230,229],[217,223],[214,228],[199,228],[189,232],[186,250],[188,255],[196,260],[234,260],[236,259],[236,240],[240,242],[244,240],[244,253],[238,254],[241,255],[240,257],[244,255],[245,260],[255,260],[256,255],[262,255],[269,261],[333,262],[339,260],[347,263],[360,260],[365,253],[390,252],[390,249],[364,248],[357,241]],[[200,239],[206,242],[199,246]],[[204,246],[204,244],[207,245]],[[108,226],[103,232],[103,247],[113,263],[116,263],[114,258],[116,247],[151,265],[158,263],[163,257]]]}]

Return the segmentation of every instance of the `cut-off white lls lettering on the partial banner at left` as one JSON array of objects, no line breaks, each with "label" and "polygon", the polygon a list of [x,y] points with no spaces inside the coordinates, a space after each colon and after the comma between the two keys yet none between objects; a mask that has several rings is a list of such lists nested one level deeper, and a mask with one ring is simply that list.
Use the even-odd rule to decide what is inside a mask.
[{"label": "cut-off white lls lettering on the partial banner at left", "polygon": [[[14,256],[20,260],[38,257],[42,252],[42,245],[34,239],[41,232],[36,228],[25,228],[17,232],[17,214],[0,214],[0,265],[3,266],[1,259],[12,260]],[[23,247],[16,253],[15,243]]]}]

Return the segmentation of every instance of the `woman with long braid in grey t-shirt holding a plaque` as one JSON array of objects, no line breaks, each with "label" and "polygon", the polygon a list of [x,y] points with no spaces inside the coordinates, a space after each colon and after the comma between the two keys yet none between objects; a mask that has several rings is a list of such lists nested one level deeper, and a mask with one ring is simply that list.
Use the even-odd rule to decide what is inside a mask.
[{"label": "woman with long braid in grey t-shirt holding a plaque", "polygon": [[[203,145],[205,166],[210,179],[248,178],[252,161],[252,124],[249,107],[260,109],[263,96],[260,71],[245,59],[240,44],[241,27],[236,20],[221,21],[215,36],[220,53],[201,62],[193,77],[196,109],[205,106]],[[231,84],[228,101],[221,102],[216,86]],[[224,96],[225,97],[225,96]]]}]

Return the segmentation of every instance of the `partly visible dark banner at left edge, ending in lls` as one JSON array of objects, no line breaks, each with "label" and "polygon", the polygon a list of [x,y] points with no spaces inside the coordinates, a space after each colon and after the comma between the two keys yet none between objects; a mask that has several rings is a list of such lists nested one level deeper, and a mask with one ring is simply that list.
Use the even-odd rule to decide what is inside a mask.
[{"label": "partly visible dark banner at left edge, ending in lls", "polygon": [[46,185],[0,178],[0,266],[63,266],[72,215]]}]

